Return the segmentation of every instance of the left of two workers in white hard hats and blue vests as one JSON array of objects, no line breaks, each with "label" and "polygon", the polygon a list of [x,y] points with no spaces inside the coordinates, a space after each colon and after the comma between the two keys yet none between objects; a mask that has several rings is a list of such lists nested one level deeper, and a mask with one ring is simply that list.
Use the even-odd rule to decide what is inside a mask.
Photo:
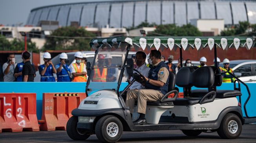
[{"label": "left of two workers in white hard hats and blue vests", "polygon": [[49,52],[44,53],[44,64],[38,67],[41,75],[41,82],[55,82],[53,73],[57,73],[54,65],[51,61],[51,54]]}]

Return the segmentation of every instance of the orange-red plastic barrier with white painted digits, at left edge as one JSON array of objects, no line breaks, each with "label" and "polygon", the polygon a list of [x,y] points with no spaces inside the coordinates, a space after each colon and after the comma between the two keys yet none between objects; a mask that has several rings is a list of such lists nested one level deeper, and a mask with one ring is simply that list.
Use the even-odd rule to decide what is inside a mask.
[{"label": "orange-red plastic barrier with white painted digits, at left edge", "polygon": [[39,131],[36,93],[0,93],[0,132]]}]

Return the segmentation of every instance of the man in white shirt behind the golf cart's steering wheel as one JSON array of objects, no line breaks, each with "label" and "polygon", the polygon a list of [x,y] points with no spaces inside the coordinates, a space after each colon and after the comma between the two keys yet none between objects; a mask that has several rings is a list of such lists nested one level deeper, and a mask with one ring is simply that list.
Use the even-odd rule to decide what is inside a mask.
[{"label": "man in white shirt behind the golf cart's steering wheel", "polygon": [[[148,77],[150,68],[147,67],[146,64],[145,64],[146,56],[147,55],[142,51],[138,51],[136,53],[135,62],[136,62],[137,67],[135,69],[140,71],[145,77]],[[134,71],[134,72],[136,72],[136,71]],[[134,82],[128,90],[130,90],[130,89],[140,90],[140,89],[145,89],[145,87],[142,86],[142,84],[140,84],[139,82]]]}]

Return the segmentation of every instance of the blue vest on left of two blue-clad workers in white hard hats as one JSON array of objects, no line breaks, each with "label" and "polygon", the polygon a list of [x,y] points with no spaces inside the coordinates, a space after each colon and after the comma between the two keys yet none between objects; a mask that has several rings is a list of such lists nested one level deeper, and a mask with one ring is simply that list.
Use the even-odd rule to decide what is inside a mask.
[{"label": "blue vest on left of two blue-clad workers in white hard hats", "polygon": [[[44,70],[45,65],[42,64],[38,67],[39,73],[41,74],[41,72]],[[49,65],[44,73],[44,75],[41,75],[41,82],[55,82],[55,78],[53,76],[53,66]]]}]

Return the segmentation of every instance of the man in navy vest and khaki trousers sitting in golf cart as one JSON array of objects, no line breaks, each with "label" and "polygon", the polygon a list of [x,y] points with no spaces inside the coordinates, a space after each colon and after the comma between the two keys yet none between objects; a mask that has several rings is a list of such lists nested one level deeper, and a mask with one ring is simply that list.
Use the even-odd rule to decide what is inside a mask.
[{"label": "man in navy vest and khaki trousers sitting in golf cart", "polygon": [[125,105],[130,107],[130,113],[133,113],[134,103],[138,101],[137,113],[139,118],[135,120],[134,125],[147,124],[145,118],[147,101],[160,100],[168,92],[169,67],[161,61],[161,53],[158,50],[151,50],[149,63],[153,68],[149,70],[149,76],[146,77],[145,89],[133,89],[127,91]]}]

